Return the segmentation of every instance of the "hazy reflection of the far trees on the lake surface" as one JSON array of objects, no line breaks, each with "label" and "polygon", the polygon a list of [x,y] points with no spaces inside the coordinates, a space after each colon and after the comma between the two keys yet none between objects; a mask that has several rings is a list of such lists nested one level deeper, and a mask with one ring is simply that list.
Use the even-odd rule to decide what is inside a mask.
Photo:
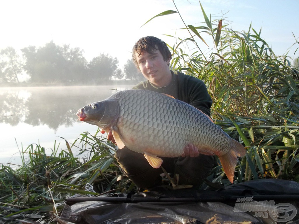
[{"label": "hazy reflection of the far trees on the lake surface", "polygon": [[11,126],[26,123],[47,125],[57,130],[77,121],[81,107],[106,99],[118,90],[132,86],[34,87],[2,88],[0,90],[0,123]]}]

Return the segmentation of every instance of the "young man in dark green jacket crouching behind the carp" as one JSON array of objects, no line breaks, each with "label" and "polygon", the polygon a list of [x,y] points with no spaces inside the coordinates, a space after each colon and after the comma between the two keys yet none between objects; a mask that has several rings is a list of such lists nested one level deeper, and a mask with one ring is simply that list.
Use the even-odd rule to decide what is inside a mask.
[{"label": "young man in dark green jacket crouching behind the carp", "polygon": [[[132,56],[134,64],[147,79],[133,89],[166,93],[210,115],[212,99],[205,84],[195,77],[170,70],[171,53],[165,42],[152,36],[143,37],[134,45]],[[111,133],[108,133],[108,139],[114,140]],[[138,187],[161,185],[162,169],[152,168],[143,154],[123,148],[116,151],[115,158]],[[162,166],[168,173],[179,174],[179,184],[193,187],[203,182],[214,165],[213,156],[199,154],[192,144],[186,145],[182,156],[162,159]]]}]

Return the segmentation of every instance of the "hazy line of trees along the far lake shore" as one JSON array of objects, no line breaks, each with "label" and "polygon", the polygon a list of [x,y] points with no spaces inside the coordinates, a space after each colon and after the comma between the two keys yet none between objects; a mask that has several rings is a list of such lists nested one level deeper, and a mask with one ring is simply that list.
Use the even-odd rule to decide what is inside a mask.
[{"label": "hazy line of trees along the far lake shore", "polygon": [[88,62],[84,50],[53,41],[43,47],[21,49],[22,57],[13,47],[0,51],[0,84],[20,83],[27,74],[28,83],[46,85],[100,85],[112,79],[143,80],[140,71],[128,59],[123,70],[116,57],[100,54]]}]

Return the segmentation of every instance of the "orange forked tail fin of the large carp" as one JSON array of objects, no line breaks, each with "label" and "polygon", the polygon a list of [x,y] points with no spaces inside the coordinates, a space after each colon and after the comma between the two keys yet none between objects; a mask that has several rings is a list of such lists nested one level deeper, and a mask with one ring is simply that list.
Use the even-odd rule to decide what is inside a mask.
[{"label": "orange forked tail fin of the large carp", "polygon": [[234,139],[231,140],[232,148],[228,151],[228,153],[219,156],[219,159],[226,176],[229,181],[233,183],[238,157],[243,157],[246,154],[246,150],[240,142],[237,142]]}]

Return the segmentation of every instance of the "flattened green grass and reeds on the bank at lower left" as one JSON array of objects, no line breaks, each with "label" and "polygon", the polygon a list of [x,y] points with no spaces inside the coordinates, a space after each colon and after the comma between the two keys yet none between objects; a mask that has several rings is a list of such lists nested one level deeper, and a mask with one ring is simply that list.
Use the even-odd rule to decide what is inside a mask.
[{"label": "flattened green grass and reeds on the bank at lower left", "polygon": [[[106,139],[83,133],[73,144],[65,143],[67,151],[59,152],[55,143],[51,154],[46,154],[41,145],[32,144],[21,150],[21,166],[13,169],[1,165],[0,220],[56,223],[59,203],[68,196],[99,195],[129,188],[128,179],[118,182],[118,176],[123,174],[114,162],[115,149]],[[73,151],[78,150],[78,145],[76,157]],[[87,183],[97,193],[90,191]]]}]

